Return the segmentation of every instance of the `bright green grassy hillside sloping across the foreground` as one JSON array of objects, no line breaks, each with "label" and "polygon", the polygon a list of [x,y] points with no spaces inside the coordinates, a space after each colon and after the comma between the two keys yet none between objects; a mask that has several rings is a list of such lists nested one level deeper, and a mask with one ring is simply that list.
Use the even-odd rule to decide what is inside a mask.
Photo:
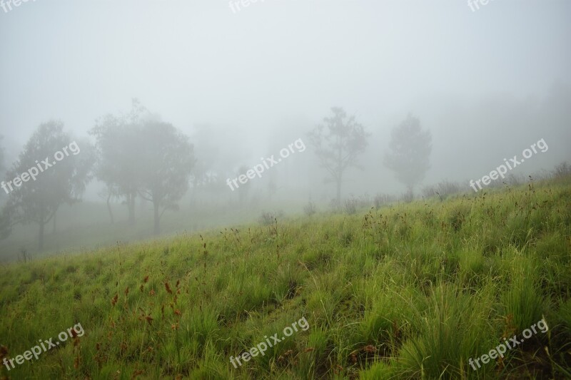
[{"label": "bright green grassy hillside sloping across the foreground", "polygon": [[0,285],[0,359],[84,331],[0,378],[565,379],[571,183],[10,264]]}]

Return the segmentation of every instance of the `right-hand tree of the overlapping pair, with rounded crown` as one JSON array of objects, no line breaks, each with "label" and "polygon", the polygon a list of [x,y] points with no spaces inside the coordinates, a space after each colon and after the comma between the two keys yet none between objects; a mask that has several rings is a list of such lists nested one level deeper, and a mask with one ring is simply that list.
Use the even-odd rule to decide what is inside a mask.
[{"label": "right-hand tree of the overlapping pair, with rounded crown", "polygon": [[143,168],[138,193],[153,203],[154,232],[158,235],[163,213],[177,210],[176,202],[188,191],[196,160],[188,136],[171,124],[151,120],[143,124],[138,135],[139,165]]}]

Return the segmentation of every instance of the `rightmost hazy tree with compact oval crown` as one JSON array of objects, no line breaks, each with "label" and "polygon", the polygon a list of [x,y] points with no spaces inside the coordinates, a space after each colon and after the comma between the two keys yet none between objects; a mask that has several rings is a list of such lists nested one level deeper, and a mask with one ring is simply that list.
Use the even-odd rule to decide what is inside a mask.
[{"label": "rightmost hazy tree with compact oval crown", "polygon": [[430,168],[431,141],[430,130],[421,130],[420,120],[410,113],[391,133],[390,153],[385,155],[385,166],[395,172],[410,195]]}]

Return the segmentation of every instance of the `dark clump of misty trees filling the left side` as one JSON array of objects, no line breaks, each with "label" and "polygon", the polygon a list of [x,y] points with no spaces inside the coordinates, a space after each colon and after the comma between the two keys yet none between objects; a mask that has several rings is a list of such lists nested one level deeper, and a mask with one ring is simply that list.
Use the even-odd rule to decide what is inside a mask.
[{"label": "dark clump of misty trees filling the left side", "polygon": [[[0,238],[8,237],[15,225],[34,223],[39,227],[38,247],[42,250],[46,224],[61,205],[79,202],[94,177],[106,185],[108,201],[126,201],[131,223],[135,221],[135,197],[151,202],[154,232],[160,232],[163,213],[176,209],[177,201],[188,190],[195,163],[188,137],[148,113],[136,100],[131,113],[106,115],[90,133],[96,140],[94,146],[83,140],[79,143],[81,154],[46,168],[35,180],[14,185],[0,212]],[[38,160],[54,157],[71,140],[61,121],[42,123],[4,178],[24,177],[22,173]],[[4,166],[3,157],[0,152],[0,166]]]}]

